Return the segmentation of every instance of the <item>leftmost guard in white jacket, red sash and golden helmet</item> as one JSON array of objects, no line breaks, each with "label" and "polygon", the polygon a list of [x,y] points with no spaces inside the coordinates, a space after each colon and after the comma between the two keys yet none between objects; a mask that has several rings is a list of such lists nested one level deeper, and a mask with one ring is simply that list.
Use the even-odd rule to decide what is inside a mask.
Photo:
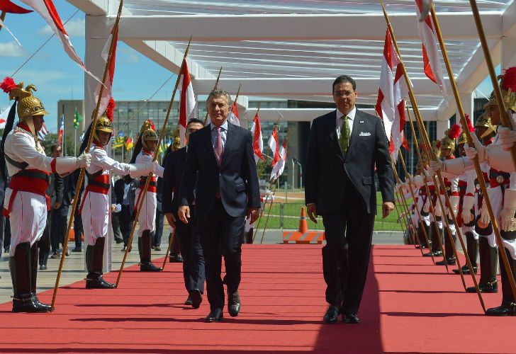
[{"label": "leftmost guard in white jacket, red sash and golden helmet", "polygon": [[[6,189],[4,215],[11,220],[11,251],[9,269],[13,280],[13,312],[50,312],[36,296],[38,276],[38,240],[43,234],[50,210],[50,198],[45,195],[50,173],[61,175],[89,166],[91,155],[51,158],[38,141],[47,111],[35,96],[34,85],[23,89],[23,82],[15,84],[6,78],[0,85],[9,98],[16,100],[6,122],[2,139],[2,153],[11,183]],[[18,103],[19,122],[13,127]],[[4,162],[5,161],[5,162]]]}]

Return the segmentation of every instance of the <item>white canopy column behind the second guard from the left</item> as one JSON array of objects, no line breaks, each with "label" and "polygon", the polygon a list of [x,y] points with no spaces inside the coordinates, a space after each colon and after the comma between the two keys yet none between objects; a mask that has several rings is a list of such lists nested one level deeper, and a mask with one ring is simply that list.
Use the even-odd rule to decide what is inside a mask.
[{"label": "white canopy column behind the second guard from the left", "polygon": [[[103,19],[103,21],[102,21]],[[86,15],[86,24],[85,24],[85,35],[84,38],[86,40],[85,47],[85,55],[84,55],[84,64],[99,79],[102,79],[104,69],[106,67],[106,62],[103,61],[101,57],[101,52],[106,44],[106,40],[108,39],[109,34],[111,33],[112,25],[106,23],[106,16],[89,16]],[[92,38],[91,31],[95,30],[95,38]],[[103,35],[99,36],[99,33],[103,33]],[[99,84],[98,81],[93,79],[88,74],[84,74],[84,117],[86,127],[91,122],[91,115],[96,107],[96,101],[94,98],[94,92],[96,86]],[[111,156],[111,145],[108,145],[108,154]],[[111,205],[111,193],[109,195],[109,202]],[[109,215],[109,227],[108,234],[106,235],[106,244],[104,246],[104,260],[103,260],[103,271],[109,272],[111,271],[111,239],[113,231],[111,229],[111,208]]]}]

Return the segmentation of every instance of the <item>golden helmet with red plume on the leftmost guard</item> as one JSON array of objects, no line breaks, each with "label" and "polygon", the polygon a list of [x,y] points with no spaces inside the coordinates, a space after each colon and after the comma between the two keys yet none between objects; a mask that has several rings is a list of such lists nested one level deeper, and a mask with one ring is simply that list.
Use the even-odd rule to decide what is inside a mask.
[{"label": "golden helmet with red plume on the leftmost guard", "polygon": [[37,91],[36,86],[30,84],[23,89],[23,82],[16,84],[11,77],[6,77],[0,84],[5,93],[9,93],[9,100],[16,100],[18,107],[18,119],[28,125],[30,132],[35,135],[33,115],[48,115],[45,106],[40,99],[33,95]]}]

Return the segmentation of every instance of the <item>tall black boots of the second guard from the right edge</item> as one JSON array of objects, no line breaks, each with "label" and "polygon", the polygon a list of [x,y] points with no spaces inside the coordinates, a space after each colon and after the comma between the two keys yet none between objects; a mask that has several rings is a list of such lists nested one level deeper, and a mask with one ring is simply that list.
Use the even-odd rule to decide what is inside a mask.
[{"label": "tall black boots of the second guard from the right edge", "polygon": [[[481,292],[498,292],[496,280],[496,263],[498,261],[498,247],[491,247],[486,237],[478,237],[478,251],[480,253],[480,280],[478,289]],[[476,292],[475,287],[466,288],[466,292]]]}]

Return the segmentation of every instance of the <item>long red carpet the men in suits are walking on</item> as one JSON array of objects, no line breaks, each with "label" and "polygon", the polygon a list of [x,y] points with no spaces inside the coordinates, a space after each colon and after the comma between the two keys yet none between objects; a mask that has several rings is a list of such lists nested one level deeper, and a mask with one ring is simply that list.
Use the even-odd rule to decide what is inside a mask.
[{"label": "long red carpet the men in suits are walking on", "polygon": [[[185,307],[181,265],[164,273],[131,267],[116,290],[84,290],[84,281],[63,287],[52,314],[12,314],[10,302],[1,304],[0,353],[516,353],[516,318],[483,316],[459,276],[413,246],[374,247],[359,325],[321,324],[320,246],[245,246],[242,258],[235,319],[203,323],[206,296],[200,309]],[[486,306],[500,297],[484,295]]]}]

